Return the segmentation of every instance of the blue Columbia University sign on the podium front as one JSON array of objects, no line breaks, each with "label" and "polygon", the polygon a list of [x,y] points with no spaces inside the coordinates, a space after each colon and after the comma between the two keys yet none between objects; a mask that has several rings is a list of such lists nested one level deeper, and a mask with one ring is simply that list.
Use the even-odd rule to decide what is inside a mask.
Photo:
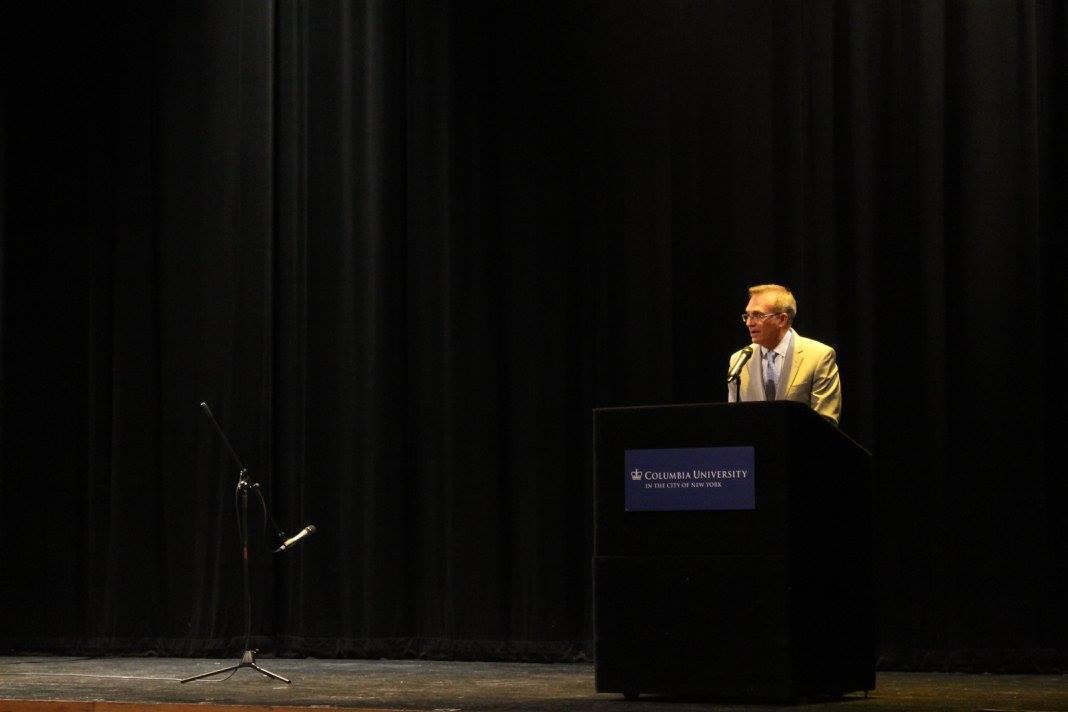
[{"label": "blue Columbia University sign on the podium front", "polygon": [[756,509],[753,448],[625,450],[627,511]]}]

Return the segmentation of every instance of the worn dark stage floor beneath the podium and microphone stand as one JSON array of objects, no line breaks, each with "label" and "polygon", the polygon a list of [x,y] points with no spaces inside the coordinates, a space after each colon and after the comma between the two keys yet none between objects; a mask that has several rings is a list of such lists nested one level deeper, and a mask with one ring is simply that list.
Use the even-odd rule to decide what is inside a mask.
[{"label": "worn dark stage floor beneath the podium and microphone stand", "polygon": [[[179,658],[0,658],[0,712],[213,712],[284,708],[346,708],[408,712],[695,712],[782,710],[594,692],[590,664],[456,663],[262,659],[290,678],[284,684],[241,669],[231,679],[179,684],[182,678],[237,661]],[[197,706],[195,708],[193,706]],[[883,673],[868,698],[795,709],[836,712],[940,710],[1066,712],[1068,676]]]}]

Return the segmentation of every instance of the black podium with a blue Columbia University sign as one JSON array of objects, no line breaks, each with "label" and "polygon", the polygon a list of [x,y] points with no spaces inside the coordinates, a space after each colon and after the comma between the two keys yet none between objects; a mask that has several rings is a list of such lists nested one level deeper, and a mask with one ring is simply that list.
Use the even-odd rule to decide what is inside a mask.
[{"label": "black podium with a blue Columbia University sign", "polygon": [[597,409],[594,493],[597,692],[875,689],[870,455],[820,415]]}]

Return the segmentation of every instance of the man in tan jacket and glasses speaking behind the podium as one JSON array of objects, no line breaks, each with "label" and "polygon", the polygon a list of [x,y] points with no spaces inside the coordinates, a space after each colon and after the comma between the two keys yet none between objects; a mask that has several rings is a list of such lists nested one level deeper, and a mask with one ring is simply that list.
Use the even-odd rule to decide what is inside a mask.
[{"label": "man in tan jacket and glasses speaking behind the podium", "polygon": [[[742,321],[753,339],[752,358],[727,385],[727,399],[797,400],[835,425],[842,413],[842,382],[834,349],[792,329],[797,301],[786,287],[760,284],[749,289]],[[731,357],[738,363],[742,351]],[[738,394],[741,398],[738,398]]]}]

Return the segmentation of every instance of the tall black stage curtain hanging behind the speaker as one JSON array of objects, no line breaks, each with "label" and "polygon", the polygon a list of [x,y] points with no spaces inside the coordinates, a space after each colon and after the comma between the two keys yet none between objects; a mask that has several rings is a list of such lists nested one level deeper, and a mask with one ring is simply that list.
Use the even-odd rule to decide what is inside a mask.
[{"label": "tall black stage curtain hanging behind the speaker", "polygon": [[[591,414],[789,284],[876,455],[883,665],[1063,669],[1046,2],[3,11],[0,646],[592,654]],[[269,537],[268,537],[269,539]]]}]

